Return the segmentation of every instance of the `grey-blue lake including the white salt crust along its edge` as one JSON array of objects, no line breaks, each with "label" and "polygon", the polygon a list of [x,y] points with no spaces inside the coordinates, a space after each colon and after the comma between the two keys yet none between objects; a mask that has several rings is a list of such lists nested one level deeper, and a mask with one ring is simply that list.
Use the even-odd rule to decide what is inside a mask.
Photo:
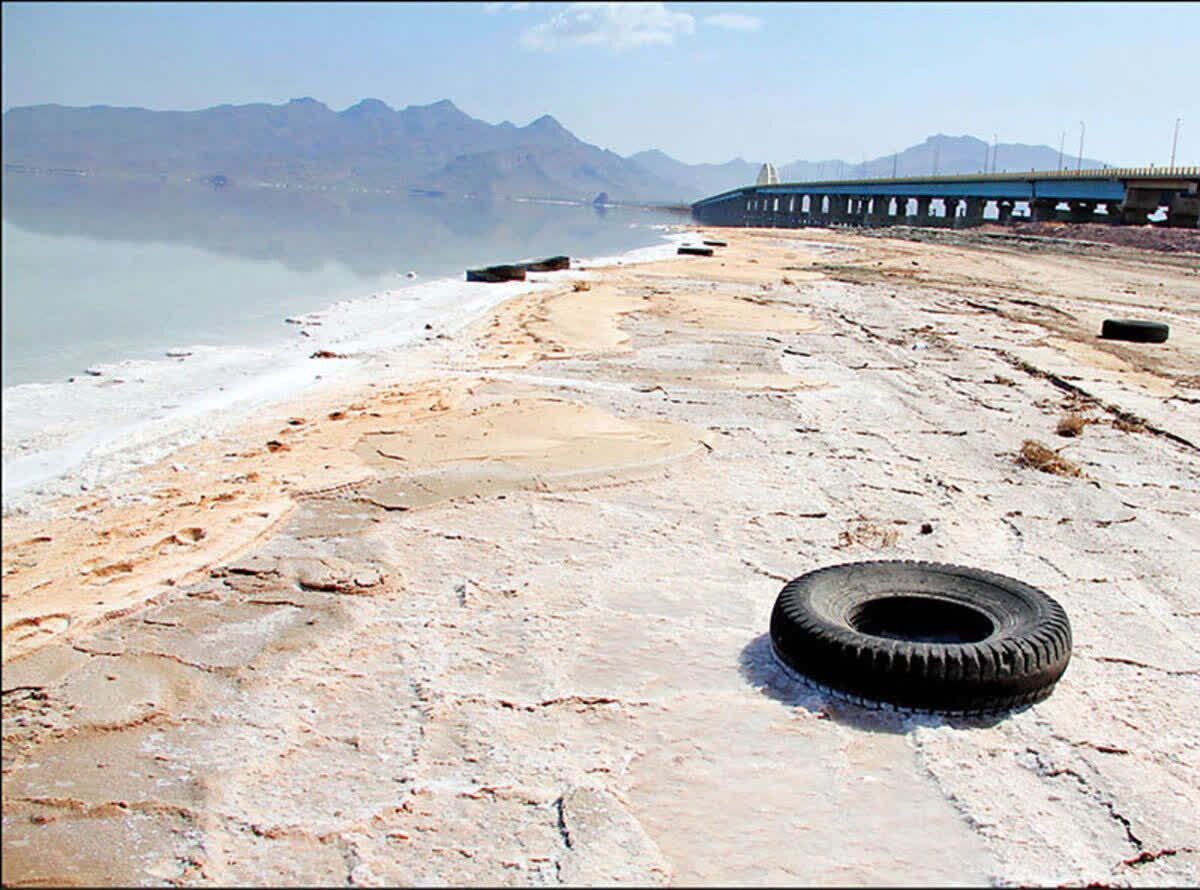
[{"label": "grey-blue lake including the white salt crust along its edge", "polygon": [[216,416],[346,372],[310,361],[317,349],[403,347],[426,324],[464,323],[530,287],[467,284],[468,266],[664,252],[664,228],[682,222],[568,204],[5,175],[5,509],[95,485]]}]

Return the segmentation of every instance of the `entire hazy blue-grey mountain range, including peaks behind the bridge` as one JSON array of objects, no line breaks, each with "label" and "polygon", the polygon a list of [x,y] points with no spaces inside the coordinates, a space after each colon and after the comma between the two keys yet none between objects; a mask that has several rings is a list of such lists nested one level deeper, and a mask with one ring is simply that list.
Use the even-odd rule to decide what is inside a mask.
[{"label": "entire hazy blue-grey mountain range, including peaks behind the bridge", "polygon": [[[551,115],[518,127],[472,118],[449,100],[395,109],[366,98],[335,112],[313,98],[197,112],[46,104],[4,114],[7,172],[199,179],[234,186],[407,188],[480,197],[692,202],[754,182],[761,162],[686,164],[649,150],[629,157],[578,139]],[[992,146],[931,136],[863,163],[794,161],[782,181],[1056,169],[1048,145]],[[1078,158],[1062,158],[1073,167]],[[1084,158],[1085,167],[1102,162]]]}]

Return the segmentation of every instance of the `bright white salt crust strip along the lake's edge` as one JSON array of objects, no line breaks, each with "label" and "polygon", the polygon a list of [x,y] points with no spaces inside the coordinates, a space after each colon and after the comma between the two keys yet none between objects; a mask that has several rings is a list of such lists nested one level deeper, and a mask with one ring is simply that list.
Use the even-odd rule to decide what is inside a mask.
[{"label": "bright white salt crust strip along the lake's edge", "polygon": [[[600,269],[658,257],[676,243],[668,228],[650,227],[665,243],[572,261]],[[539,272],[527,282],[490,284],[487,290],[458,278],[434,278],[395,291],[337,300],[283,319],[298,325],[302,341],[281,338],[268,347],[174,345],[164,348],[158,359],[96,365],[97,373],[80,373],[68,383],[5,387],[4,515],[37,512],[56,498],[120,483],[139,467],[164,459],[206,433],[235,428],[252,413],[313,387],[361,386],[372,356],[421,344],[431,336],[430,325],[449,336],[499,302],[553,287],[563,275]],[[407,317],[397,311],[413,302],[420,303],[416,314]],[[313,365],[311,354],[323,350],[338,357]],[[404,361],[401,355],[396,360]],[[208,381],[199,387],[191,383],[198,374]],[[114,392],[114,386],[122,389]],[[143,391],[130,392],[138,387]],[[109,403],[103,415],[89,414],[85,408],[96,399]],[[52,433],[44,429],[44,413],[37,413],[47,401],[72,404]],[[150,402],[162,407],[138,409]],[[83,433],[77,420],[80,414]],[[226,414],[229,416],[222,416]],[[114,417],[120,419],[115,427]],[[131,438],[140,444],[130,446]]]}]

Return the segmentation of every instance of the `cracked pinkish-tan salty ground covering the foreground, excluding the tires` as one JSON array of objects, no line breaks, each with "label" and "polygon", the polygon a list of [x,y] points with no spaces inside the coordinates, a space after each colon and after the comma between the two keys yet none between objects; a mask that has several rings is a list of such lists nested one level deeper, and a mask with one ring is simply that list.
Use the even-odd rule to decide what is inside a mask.
[{"label": "cracked pinkish-tan salty ground covering the foreground, excluding the tires", "polygon": [[[1200,257],[701,235],[6,517],[4,883],[1198,883]],[[872,558],[1055,596],[1055,693],[784,673]]]}]

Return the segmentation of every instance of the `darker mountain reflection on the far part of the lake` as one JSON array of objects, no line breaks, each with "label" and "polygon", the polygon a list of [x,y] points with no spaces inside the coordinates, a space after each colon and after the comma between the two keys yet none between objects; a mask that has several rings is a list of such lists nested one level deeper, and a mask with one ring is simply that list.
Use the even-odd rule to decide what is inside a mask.
[{"label": "darker mountain reflection on the far part of the lake", "polygon": [[[128,242],[169,242],[295,271],[340,263],[373,277],[401,266],[438,273],[527,252],[594,253],[646,243],[629,223],[682,222],[664,211],[492,198],[212,188],[8,174],[4,217],[23,229]],[[461,271],[461,270],[460,270]]]}]

